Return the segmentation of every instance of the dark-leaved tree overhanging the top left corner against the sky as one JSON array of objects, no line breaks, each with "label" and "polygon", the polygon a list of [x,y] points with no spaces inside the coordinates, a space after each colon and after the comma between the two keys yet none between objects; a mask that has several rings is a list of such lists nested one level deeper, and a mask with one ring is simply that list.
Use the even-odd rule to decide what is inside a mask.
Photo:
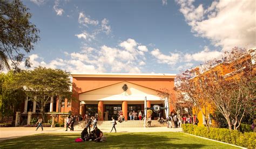
[{"label": "dark-leaved tree overhanging the top left corner against the sky", "polygon": [[24,59],[25,66],[31,65],[22,49],[26,53],[34,49],[39,30],[29,22],[28,10],[19,0],[0,1],[0,69],[10,69],[9,60],[15,70]]}]

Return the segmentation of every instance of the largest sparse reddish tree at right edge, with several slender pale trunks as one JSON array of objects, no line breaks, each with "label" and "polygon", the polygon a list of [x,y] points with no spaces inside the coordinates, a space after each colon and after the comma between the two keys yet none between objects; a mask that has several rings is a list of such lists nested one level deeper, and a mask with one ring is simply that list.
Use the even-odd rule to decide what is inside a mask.
[{"label": "largest sparse reddish tree at right edge, with several slender pale trunks", "polygon": [[[218,108],[227,120],[228,128],[237,130],[246,114],[254,110],[255,65],[246,49],[233,48],[221,60],[208,61],[202,88],[204,97]],[[219,68],[223,67],[223,68]],[[228,71],[224,74],[224,71]]]}]

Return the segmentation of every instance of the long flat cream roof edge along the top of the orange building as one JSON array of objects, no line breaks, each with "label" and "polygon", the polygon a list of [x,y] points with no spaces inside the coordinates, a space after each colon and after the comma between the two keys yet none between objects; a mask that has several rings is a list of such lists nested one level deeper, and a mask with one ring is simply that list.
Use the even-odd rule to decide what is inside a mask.
[{"label": "long flat cream roof edge along the top of the orange building", "polygon": [[125,73],[71,73],[72,77],[127,77],[127,78],[175,78],[176,74],[125,74]]}]

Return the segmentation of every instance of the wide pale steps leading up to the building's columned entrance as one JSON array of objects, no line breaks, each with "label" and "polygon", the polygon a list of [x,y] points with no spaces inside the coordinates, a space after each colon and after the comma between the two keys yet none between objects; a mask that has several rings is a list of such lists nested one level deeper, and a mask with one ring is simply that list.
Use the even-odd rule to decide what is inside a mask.
[{"label": "wide pale steps leading up to the building's columned entrance", "polygon": [[[112,127],[112,120],[104,120],[104,121],[98,121],[97,122],[97,127],[99,128],[110,128]],[[116,121],[117,122],[117,121]],[[144,121],[143,120],[127,120],[126,122],[119,123],[117,122],[116,127],[144,127]],[[146,124],[147,125],[147,124]],[[79,121],[75,122],[75,129],[84,129],[85,127],[85,122]],[[157,120],[152,120],[151,121],[151,127],[167,127],[167,124],[160,124]]]}]

